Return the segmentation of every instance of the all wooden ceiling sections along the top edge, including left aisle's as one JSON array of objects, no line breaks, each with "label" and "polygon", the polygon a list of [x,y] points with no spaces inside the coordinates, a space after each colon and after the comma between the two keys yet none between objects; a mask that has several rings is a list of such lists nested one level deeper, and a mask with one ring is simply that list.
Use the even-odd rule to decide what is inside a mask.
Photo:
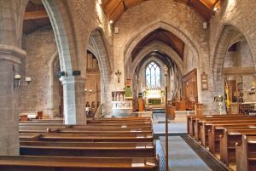
[{"label": "all wooden ceiling sections along the top edge, including left aisle's", "polygon": [[[98,0],[101,1],[101,0]],[[102,0],[102,9],[107,14],[109,20],[116,21],[125,12],[138,3],[147,0]],[[157,0],[155,0],[157,1]],[[223,0],[174,0],[178,3],[185,3],[195,9],[203,18],[210,20],[215,6]],[[44,9],[41,0],[30,0],[26,6],[24,16],[23,32],[29,34],[39,28],[49,29],[51,27],[48,14]]]}]

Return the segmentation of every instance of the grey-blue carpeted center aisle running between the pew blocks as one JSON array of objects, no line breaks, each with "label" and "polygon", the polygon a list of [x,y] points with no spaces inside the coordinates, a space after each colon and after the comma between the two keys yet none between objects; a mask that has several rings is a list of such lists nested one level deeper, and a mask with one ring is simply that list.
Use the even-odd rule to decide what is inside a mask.
[{"label": "grey-blue carpeted center aisle running between the pew blocks", "polygon": [[[164,111],[154,113],[153,128],[154,137],[159,137],[161,148],[166,151],[166,113]],[[169,168],[171,171],[225,171],[209,157],[200,146],[190,140],[187,135],[187,118],[178,117],[169,120]],[[162,155],[165,156],[165,155]]]}]

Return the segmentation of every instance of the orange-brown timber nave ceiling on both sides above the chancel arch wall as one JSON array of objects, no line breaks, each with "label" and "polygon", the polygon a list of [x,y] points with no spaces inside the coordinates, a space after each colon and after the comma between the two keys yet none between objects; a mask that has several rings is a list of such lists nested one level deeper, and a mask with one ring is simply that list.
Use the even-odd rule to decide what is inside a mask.
[{"label": "orange-brown timber nave ceiling on both sides above the chancel arch wall", "polygon": [[[99,0],[100,1],[100,0]],[[126,9],[147,0],[102,0],[102,9],[107,14],[109,20],[116,21]],[[155,0],[157,1],[157,0]],[[195,9],[203,18],[210,20],[213,8],[218,6],[220,0],[174,0],[179,3],[186,3]]]}]

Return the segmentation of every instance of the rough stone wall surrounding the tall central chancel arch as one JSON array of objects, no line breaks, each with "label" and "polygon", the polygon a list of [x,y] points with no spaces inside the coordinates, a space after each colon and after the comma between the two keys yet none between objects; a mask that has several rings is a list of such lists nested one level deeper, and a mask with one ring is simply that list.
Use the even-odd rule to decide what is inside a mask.
[{"label": "rough stone wall surrounding the tall central chancel arch", "polygon": [[[131,50],[136,44],[151,31],[157,28],[166,29],[183,40],[186,48],[189,48],[185,59],[189,66],[187,68],[184,66],[184,71],[186,73],[194,67],[198,68],[199,101],[209,106],[212,105],[212,100],[204,98],[211,94],[201,91],[201,72],[210,72],[208,70],[209,32],[202,28],[203,21],[204,19],[195,12],[195,9],[173,0],[148,0],[127,9],[114,25],[119,27],[119,33],[113,35],[114,70],[119,69],[122,73],[127,71],[125,67],[130,64],[126,61],[129,61]],[[195,61],[195,63],[190,61]],[[110,90],[124,88],[125,77],[121,77],[119,84],[116,84],[116,79],[117,77],[113,75]]]}]

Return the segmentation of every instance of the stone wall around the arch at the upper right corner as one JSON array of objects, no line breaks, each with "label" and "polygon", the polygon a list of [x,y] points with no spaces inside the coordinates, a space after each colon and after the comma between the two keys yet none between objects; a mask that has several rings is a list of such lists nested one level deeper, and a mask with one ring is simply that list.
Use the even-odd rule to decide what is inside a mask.
[{"label": "stone wall around the arch at the upper right corner", "polygon": [[[250,0],[232,0],[224,1],[220,10],[212,16],[210,22],[210,56],[212,70],[217,71],[221,68],[221,60],[224,58],[223,50],[229,45],[228,38],[225,38],[229,34],[227,26],[236,29],[241,32],[248,43],[248,47],[251,50],[253,56],[253,63],[255,66],[255,54],[256,54],[256,2]],[[214,62],[218,63],[214,68]]]}]

